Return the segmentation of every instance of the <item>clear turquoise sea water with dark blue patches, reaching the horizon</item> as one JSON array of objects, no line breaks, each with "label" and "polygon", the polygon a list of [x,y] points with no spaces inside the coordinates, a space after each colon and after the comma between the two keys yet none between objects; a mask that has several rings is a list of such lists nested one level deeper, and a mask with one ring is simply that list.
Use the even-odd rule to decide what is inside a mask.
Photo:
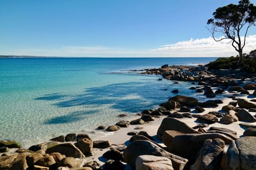
[{"label": "clear turquoise sea water with dark blue patches, reaching the horizon", "polygon": [[173,84],[128,70],[215,59],[0,58],[0,140],[29,147],[67,133],[89,133],[94,139],[108,135],[95,128],[133,120],[136,113],[174,96],[173,89],[180,95],[197,95],[188,82]]}]

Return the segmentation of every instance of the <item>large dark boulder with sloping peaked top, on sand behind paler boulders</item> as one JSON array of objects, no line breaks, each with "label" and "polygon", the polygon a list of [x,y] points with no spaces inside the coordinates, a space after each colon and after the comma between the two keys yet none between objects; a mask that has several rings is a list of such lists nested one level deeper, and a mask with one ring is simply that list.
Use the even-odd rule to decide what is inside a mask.
[{"label": "large dark boulder with sloping peaked top, on sand behind paler boulders", "polygon": [[157,138],[162,140],[164,131],[174,130],[182,133],[199,133],[194,129],[190,128],[186,123],[176,120],[175,118],[164,118],[161,125],[157,130]]}]

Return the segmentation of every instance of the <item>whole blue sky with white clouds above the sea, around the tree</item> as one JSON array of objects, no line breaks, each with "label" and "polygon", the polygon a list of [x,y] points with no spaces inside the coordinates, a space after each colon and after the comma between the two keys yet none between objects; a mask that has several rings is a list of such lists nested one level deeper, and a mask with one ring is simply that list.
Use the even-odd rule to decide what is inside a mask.
[{"label": "whole blue sky with white clouds above the sea, around the tree", "polygon": [[[229,57],[207,20],[231,0],[1,0],[0,55]],[[251,0],[256,5],[256,0]],[[244,53],[256,47],[256,26]]]}]

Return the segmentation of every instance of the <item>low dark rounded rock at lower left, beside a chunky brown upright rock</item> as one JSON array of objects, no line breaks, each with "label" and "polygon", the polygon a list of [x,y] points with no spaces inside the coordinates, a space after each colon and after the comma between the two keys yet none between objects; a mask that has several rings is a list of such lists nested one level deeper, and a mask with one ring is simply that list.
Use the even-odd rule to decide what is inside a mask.
[{"label": "low dark rounded rock at lower left, beside a chunky brown upright rock", "polygon": [[74,158],[83,158],[84,155],[74,144],[72,143],[62,143],[60,145],[48,148],[46,150],[46,154],[51,154],[53,152],[59,152],[66,157],[74,157]]}]

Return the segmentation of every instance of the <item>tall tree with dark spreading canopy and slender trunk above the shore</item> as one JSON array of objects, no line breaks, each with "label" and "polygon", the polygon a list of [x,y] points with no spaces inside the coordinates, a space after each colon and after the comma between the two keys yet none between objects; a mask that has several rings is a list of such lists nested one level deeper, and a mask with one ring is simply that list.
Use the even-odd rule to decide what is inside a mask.
[{"label": "tall tree with dark spreading canopy and slender trunk above the shore", "polygon": [[[213,18],[207,21],[212,28],[209,29],[215,41],[230,39],[231,45],[239,53],[237,66],[242,63],[243,48],[247,32],[251,26],[256,23],[256,6],[249,0],[241,0],[238,5],[229,4],[219,7],[213,13]],[[214,35],[221,33],[221,38],[215,38]],[[243,35],[243,36],[242,36]]]}]

